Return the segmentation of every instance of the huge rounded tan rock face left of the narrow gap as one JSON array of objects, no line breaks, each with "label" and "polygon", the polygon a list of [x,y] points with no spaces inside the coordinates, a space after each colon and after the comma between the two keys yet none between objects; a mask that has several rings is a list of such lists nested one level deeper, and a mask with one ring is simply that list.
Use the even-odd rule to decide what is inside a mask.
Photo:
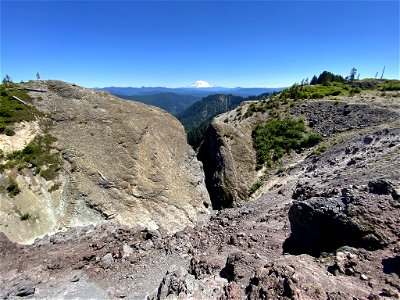
[{"label": "huge rounded tan rock face left of the narrow gap", "polygon": [[[52,152],[62,158],[61,170],[50,181],[29,168],[1,175],[5,181],[14,172],[21,189],[0,199],[0,231],[11,240],[106,220],[175,232],[209,211],[202,165],[170,114],[60,81],[28,87],[46,91],[29,94],[45,113],[39,123],[57,139]],[[30,218],[21,222],[18,212]]]}]

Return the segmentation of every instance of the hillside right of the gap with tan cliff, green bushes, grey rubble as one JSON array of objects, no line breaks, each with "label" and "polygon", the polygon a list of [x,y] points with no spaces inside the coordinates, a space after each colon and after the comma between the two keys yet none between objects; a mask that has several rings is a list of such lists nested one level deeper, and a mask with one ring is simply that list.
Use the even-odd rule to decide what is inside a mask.
[{"label": "hillside right of the gap with tan cliff, green bushes, grey rubble", "polygon": [[[348,131],[355,134],[365,127],[394,122],[398,107],[395,104],[390,107],[390,104],[396,103],[398,92],[387,92],[387,89],[392,89],[395,84],[398,83],[364,81],[351,85],[337,82],[304,87],[294,85],[268,99],[247,101],[237,109],[219,115],[208,128],[199,149],[214,207],[229,207],[248,199],[252,190],[269,175],[288,168],[288,163],[284,163],[285,153],[310,155],[314,150],[307,148],[313,145],[301,144],[303,132],[305,137],[318,137],[317,142],[322,139],[325,145],[334,142],[333,136],[345,140]],[[293,146],[282,142],[269,145],[267,141],[261,141],[258,149],[254,147],[257,124],[266,124],[267,120],[279,123],[279,120],[300,119],[305,121],[302,133],[293,138],[293,128],[290,137],[279,137],[287,141],[292,139]],[[288,124],[274,126],[273,130],[283,133],[279,126],[287,128]],[[338,137],[340,135],[344,136]]]}]

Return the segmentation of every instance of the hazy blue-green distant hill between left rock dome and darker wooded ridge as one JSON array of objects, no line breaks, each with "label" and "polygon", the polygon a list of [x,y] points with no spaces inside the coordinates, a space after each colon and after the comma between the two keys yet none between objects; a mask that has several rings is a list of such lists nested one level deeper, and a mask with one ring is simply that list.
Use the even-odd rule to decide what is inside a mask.
[{"label": "hazy blue-green distant hill between left rock dome and darker wooded ridge", "polygon": [[170,92],[149,94],[149,95],[135,95],[135,96],[116,95],[116,96],[127,100],[133,100],[142,102],[144,104],[157,106],[173,115],[180,113],[181,111],[187,109],[193,103],[201,99],[201,97],[197,96],[181,95]]}]

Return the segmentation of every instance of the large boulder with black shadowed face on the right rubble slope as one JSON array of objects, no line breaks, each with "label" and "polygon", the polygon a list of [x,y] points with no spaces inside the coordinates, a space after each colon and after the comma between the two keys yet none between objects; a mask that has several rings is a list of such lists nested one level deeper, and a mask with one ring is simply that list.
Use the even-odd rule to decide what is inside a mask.
[{"label": "large boulder with black shadowed face on the right rubble slope", "polygon": [[289,210],[292,233],[283,244],[283,252],[319,256],[345,245],[382,249],[385,241],[371,228],[347,215],[346,205],[340,198],[318,197],[295,202]]}]

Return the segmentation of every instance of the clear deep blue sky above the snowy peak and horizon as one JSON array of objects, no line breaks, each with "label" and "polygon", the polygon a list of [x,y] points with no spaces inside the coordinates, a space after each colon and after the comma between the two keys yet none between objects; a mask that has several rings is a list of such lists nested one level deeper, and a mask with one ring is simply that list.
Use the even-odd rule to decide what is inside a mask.
[{"label": "clear deep blue sky above the snowy peak and horizon", "polygon": [[[399,79],[399,1],[1,0],[1,77],[86,87]],[[380,75],[379,75],[380,76]]]}]

